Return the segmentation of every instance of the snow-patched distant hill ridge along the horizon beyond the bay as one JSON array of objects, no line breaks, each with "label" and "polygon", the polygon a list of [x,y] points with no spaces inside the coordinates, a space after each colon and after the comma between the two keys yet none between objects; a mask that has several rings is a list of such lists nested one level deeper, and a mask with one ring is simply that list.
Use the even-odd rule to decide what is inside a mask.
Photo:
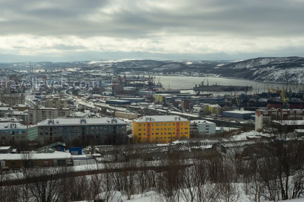
[{"label": "snow-patched distant hill ridge along the horizon beyond the bay", "polygon": [[[37,62],[34,69],[62,69],[94,73],[134,73],[184,76],[220,76],[257,81],[304,83],[304,58],[255,58],[244,61],[117,60]],[[10,70],[27,70],[27,63],[0,64]]]}]

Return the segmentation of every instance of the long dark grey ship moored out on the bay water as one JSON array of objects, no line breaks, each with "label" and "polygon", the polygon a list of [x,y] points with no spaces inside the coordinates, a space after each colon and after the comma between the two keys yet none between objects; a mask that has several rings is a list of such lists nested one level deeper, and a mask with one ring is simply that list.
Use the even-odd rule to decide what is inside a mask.
[{"label": "long dark grey ship moored out on the bay water", "polygon": [[204,85],[204,81],[202,81],[200,84],[195,83],[195,87],[193,87],[193,90],[194,91],[250,91],[252,89],[252,86],[218,85],[218,84],[209,85],[208,80],[207,80],[207,85]]}]

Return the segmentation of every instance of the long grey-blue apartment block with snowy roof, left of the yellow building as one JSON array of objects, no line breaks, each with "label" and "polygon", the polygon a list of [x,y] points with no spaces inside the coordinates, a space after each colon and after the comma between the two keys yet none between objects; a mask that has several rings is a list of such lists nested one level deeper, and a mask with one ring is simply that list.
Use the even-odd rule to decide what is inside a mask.
[{"label": "long grey-blue apartment block with snowy roof, left of the yellow building", "polygon": [[37,124],[37,140],[46,143],[58,138],[79,139],[90,145],[126,143],[127,123],[117,118],[57,118]]}]

